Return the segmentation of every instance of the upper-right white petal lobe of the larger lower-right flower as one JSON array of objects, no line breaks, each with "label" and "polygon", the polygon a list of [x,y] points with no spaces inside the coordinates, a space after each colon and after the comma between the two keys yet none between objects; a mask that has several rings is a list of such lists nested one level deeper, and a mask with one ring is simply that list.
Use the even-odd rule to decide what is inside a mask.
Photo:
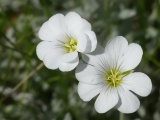
[{"label": "upper-right white petal lobe of the larger lower-right flower", "polygon": [[143,51],[140,45],[132,43],[124,53],[123,62],[121,64],[121,71],[132,70],[138,66],[142,59]]}]

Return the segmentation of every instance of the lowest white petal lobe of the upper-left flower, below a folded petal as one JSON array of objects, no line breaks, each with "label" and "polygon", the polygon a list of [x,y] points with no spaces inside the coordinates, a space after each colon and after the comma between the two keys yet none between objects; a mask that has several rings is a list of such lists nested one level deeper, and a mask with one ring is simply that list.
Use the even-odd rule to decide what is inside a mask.
[{"label": "lowest white petal lobe of the upper-left flower, below a folded petal", "polygon": [[79,58],[78,57],[75,60],[73,60],[72,62],[62,62],[61,61],[60,65],[59,65],[59,69],[62,72],[71,71],[71,70],[73,70],[74,68],[77,67],[78,63],[79,63]]}]

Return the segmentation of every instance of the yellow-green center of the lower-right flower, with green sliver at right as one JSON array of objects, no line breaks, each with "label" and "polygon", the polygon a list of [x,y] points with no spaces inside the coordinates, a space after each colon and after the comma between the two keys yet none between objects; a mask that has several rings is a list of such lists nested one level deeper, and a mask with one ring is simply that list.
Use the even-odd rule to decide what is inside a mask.
[{"label": "yellow-green center of the lower-right flower, with green sliver at right", "polygon": [[122,78],[124,76],[127,76],[131,72],[132,71],[129,70],[129,71],[122,73],[119,70],[111,69],[111,70],[107,71],[107,73],[105,74],[105,83],[109,87],[118,87],[122,83]]}]

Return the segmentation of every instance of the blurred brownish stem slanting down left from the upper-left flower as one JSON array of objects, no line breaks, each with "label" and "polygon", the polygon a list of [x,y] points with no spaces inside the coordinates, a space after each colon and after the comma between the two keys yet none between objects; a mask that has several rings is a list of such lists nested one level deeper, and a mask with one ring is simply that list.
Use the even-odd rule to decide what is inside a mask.
[{"label": "blurred brownish stem slanting down left from the upper-left flower", "polygon": [[43,67],[43,63],[40,63],[32,72],[30,72],[21,82],[19,82],[12,91],[5,96],[0,103],[2,103],[9,95],[11,95],[13,92],[15,92],[18,88],[20,88],[30,77],[32,77],[38,70],[40,70]]}]

